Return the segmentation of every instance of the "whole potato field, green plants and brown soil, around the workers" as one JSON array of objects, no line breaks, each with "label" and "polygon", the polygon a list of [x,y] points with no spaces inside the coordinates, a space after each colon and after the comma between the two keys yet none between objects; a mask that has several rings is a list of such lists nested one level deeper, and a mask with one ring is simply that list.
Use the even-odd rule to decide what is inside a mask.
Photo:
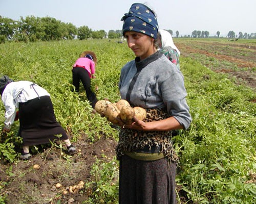
[{"label": "whole potato field, green plants and brown soil, around the workers", "polygon": [[[63,144],[30,147],[19,160],[18,121],[0,133],[0,204],[118,203],[119,127],[91,108],[81,85],[75,93],[72,65],[84,50],[96,53],[98,99],[120,99],[122,66],[134,59],[119,39],[0,44],[0,74],[48,90],[57,120],[78,149]],[[193,121],[173,138],[180,162],[177,203],[255,203],[256,40],[174,38],[181,51],[187,103]],[[172,84],[170,84],[172,86]],[[96,89],[98,87],[98,89]],[[5,109],[0,103],[0,126]]]}]

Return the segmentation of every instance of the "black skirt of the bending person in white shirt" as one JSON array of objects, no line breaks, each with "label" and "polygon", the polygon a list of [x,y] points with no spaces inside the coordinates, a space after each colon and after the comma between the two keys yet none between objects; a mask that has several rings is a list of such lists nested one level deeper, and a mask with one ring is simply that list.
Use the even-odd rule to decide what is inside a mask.
[{"label": "black skirt of the bending person in white shirt", "polygon": [[19,103],[19,135],[24,146],[68,139],[67,133],[56,121],[50,96]]}]

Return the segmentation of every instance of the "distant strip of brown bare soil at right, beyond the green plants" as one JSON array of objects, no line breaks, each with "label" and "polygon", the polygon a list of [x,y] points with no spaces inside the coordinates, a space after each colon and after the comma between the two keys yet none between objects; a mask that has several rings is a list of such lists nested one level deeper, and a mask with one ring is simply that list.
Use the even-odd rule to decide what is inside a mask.
[{"label": "distant strip of brown bare soil at right, beyond the green plants", "polygon": [[[256,45],[250,43],[239,43],[239,41],[227,41],[226,43],[202,42],[176,43],[181,50],[181,55],[191,57],[200,61],[206,67],[222,73],[228,73],[230,77],[237,78],[237,84],[256,88]],[[211,65],[208,61],[200,60],[197,56],[214,58],[219,61],[218,67]],[[224,62],[228,62],[227,65]]]}]

